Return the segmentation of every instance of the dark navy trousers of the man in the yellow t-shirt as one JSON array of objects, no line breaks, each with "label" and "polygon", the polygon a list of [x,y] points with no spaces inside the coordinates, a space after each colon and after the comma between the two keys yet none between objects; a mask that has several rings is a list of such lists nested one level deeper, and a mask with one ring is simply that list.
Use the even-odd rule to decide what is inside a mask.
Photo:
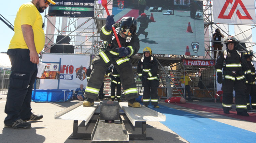
[{"label": "dark navy trousers of the man in the yellow t-shirt", "polygon": [[4,112],[4,123],[12,123],[18,118],[30,118],[32,88],[37,76],[37,64],[30,62],[29,49],[9,49],[7,51],[12,64],[10,86]]}]

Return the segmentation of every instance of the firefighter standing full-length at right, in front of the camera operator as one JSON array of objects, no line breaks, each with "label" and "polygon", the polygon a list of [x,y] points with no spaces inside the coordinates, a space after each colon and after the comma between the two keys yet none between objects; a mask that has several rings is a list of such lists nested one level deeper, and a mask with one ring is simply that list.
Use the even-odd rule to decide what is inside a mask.
[{"label": "firefighter standing full-length at right, in front of the camera operator", "polygon": [[[227,49],[221,53],[216,62],[217,81],[222,84],[223,100],[222,106],[225,114],[229,114],[232,107],[232,92],[236,92],[236,110],[241,116],[249,116],[246,107],[244,78],[252,82],[252,75],[248,72],[248,65],[237,51],[239,41],[233,36],[224,39]],[[222,71],[223,68],[223,71]],[[223,73],[223,74],[222,74]],[[224,77],[224,80],[223,80]]]}]

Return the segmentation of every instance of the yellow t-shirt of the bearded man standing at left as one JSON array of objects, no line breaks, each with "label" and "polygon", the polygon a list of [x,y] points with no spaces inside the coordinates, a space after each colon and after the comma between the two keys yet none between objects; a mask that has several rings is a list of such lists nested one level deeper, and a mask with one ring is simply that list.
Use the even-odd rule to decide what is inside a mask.
[{"label": "yellow t-shirt of the bearded man standing at left", "polygon": [[14,20],[14,35],[11,39],[9,49],[28,49],[22,34],[22,25],[31,25],[34,33],[34,43],[39,53],[44,48],[45,36],[42,28],[43,18],[37,7],[32,2],[28,2],[19,7]]}]

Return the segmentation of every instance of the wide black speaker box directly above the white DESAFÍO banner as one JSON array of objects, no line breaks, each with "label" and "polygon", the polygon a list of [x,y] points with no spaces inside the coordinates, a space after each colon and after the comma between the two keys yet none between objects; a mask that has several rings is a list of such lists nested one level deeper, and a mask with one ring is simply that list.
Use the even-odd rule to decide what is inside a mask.
[{"label": "wide black speaker box directly above the white DESAF\u00cdO banner", "polygon": [[51,53],[74,53],[75,46],[68,44],[54,45],[51,47]]}]

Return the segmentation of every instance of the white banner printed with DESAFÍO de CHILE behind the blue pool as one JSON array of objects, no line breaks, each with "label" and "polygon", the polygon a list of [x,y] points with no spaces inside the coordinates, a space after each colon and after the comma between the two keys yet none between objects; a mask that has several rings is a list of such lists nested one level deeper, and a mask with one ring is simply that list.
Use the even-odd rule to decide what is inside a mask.
[{"label": "white banner printed with DESAF\u00cdO de CHILE behind the blue pool", "polygon": [[[62,55],[62,54],[43,54],[44,62],[59,62],[60,84],[59,89],[76,90],[80,84],[87,85],[86,72],[90,64],[90,55]],[[58,67],[57,67],[58,69]],[[57,89],[58,80],[41,79],[39,89]]]}]

